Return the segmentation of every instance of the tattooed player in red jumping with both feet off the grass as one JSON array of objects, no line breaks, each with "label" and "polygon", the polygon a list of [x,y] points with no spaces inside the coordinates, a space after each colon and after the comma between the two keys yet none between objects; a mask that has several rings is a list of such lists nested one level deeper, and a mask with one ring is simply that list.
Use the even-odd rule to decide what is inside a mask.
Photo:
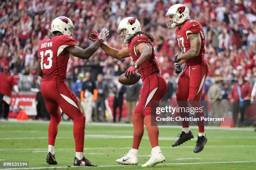
[{"label": "tattooed player in red jumping with both feet off the grass", "polygon": [[[201,24],[197,20],[189,20],[189,9],[182,4],[172,5],[166,13],[166,25],[168,28],[176,27],[176,35],[182,52],[174,55],[174,72],[180,74],[178,89],[176,92],[179,107],[188,107],[187,100],[192,107],[202,107],[201,95],[204,81],[209,72],[209,66],[205,61],[205,34]],[[184,64],[185,63],[185,64]],[[183,70],[181,65],[184,64]],[[203,117],[204,112],[195,112],[197,117]],[[181,117],[189,117],[189,112],[180,112]],[[207,138],[205,136],[204,121],[198,121],[199,134],[194,149],[199,153],[205,147]],[[189,122],[182,121],[182,133],[172,146],[181,145],[194,138],[189,130]]]}]

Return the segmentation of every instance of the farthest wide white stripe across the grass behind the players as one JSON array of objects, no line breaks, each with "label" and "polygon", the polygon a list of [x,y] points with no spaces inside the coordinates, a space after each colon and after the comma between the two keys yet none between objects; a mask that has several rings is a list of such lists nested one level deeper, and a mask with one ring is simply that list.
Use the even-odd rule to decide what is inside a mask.
[{"label": "farthest wide white stripe across the grass behind the players", "polygon": [[[42,121],[42,120],[16,120],[16,119],[9,119],[9,122],[18,122],[18,123],[41,123],[41,124],[49,124],[48,121]],[[73,122],[65,122],[61,121],[61,125],[73,125]],[[125,123],[99,123],[99,122],[88,122],[86,123],[88,126],[115,126],[115,127],[133,127],[132,124],[125,124]],[[11,127],[11,126],[10,126]],[[181,126],[159,126],[159,128],[175,128],[175,129],[181,129]],[[190,129],[198,129],[197,126],[190,126]],[[231,131],[253,131],[253,128],[220,128],[220,127],[209,127],[205,126],[205,129],[207,130],[231,130]]]}]

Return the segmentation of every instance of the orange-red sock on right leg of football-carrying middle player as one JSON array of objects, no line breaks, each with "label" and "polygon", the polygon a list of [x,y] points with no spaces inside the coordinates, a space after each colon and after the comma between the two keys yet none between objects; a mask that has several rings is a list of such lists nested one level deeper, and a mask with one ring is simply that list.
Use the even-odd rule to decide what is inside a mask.
[{"label": "orange-red sock on right leg of football-carrying middle player", "polygon": [[151,147],[154,148],[156,146],[159,146],[158,142],[158,136],[159,136],[159,130],[158,126],[152,126],[151,125],[151,115],[148,115],[144,117],[144,123],[146,125],[147,131],[148,131],[148,138],[151,143]]}]

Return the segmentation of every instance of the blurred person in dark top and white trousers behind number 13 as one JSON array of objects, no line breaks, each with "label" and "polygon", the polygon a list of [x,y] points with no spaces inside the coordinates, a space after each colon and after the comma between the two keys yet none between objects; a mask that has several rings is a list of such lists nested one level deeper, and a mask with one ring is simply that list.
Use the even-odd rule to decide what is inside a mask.
[{"label": "blurred person in dark top and white trousers behind number 13", "polygon": [[91,80],[91,73],[86,72],[85,73],[86,80],[83,82],[82,85],[82,97],[83,101],[81,101],[84,115],[86,117],[86,122],[92,121],[92,111],[93,111],[93,97],[95,93],[95,82]]}]

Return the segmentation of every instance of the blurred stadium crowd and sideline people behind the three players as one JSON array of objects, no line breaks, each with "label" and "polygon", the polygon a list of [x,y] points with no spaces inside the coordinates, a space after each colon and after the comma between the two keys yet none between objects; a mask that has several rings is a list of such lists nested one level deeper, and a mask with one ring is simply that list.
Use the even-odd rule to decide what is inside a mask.
[{"label": "blurred stadium crowd and sideline people behind the three players", "polygon": [[[187,5],[190,18],[198,20],[205,31],[205,59],[210,65],[210,73],[205,82],[202,103],[208,104],[206,108],[209,116],[213,116],[216,112],[214,108],[220,107],[221,101],[225,101],[224,103],[228,103],[226,116],[233,116],[235,125],[244,125],[243,121],[248,115],[245,114],[244,120],[241,116],[234,115],[234,106],[229,103],[244,100],[250,105],[250,101],[255,100],[254,0],[1,1],[0,72],[7,65],[19,88],[19,92],[13,93],[11,101],[7,102],[10,105],[8,117],[15,118],[20,110],[25,110],[31,118],[49,120],[49,113],[40,93],[41,79],[36,75],[37,48],[40,40],[52,36],[49,32],[51,21],[58,16],[67,16],[73,21],[77,30],[77,46],[88,47],[92,43],[88,40],[88,35],[106,27],[110,30],[106,43],[118,49],[126,47],[116,39],[118,23],[128,16],[137,18],[142,30],[155,38],[161,74],[168,81],[168,92],[163,100],[175,100],[178,75],[173,71],[172,57],[179,54],[180,49],[175,29],[166,27],[165,14],[176,3]],[[101,49],[89,60],[70,55],[67,83],[79,98],[87,121],[131,121],[130,115],[136,106],[142,82],[123,86],[117,81],[117,77],[130,65],[130,58],[115,60]],[[234,86],[236,83],[245,88],[242,95],[238,94]],[[247,105],[238,107],[238,112],[242,112]],[[65,116],[63,118],[68,119]]]}]

